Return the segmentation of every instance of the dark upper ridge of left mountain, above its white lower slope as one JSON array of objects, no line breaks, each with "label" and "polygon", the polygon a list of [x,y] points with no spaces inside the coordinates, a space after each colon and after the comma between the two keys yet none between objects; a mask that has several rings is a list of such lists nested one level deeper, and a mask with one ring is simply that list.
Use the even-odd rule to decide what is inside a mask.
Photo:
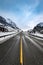
[{"label": "dark upper ridge of left mountain, above its white lower slope", "polygon": [[[7,22],[7,20],[9,21],[9,23]],[[4,17],[0,16],[0,23],[4,24],[5,26],[10,26],[14,29],[17,29],[17,25],[11,20],[11,19],[5,19]]]}]

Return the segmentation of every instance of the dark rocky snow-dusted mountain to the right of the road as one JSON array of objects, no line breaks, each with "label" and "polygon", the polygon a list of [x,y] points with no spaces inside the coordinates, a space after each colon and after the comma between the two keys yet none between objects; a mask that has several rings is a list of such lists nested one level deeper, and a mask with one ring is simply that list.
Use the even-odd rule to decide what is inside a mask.
[{"label": "dark rocky snow-dusted mountain to the right of the road", "polygon": [[28,30],[29,33],[41,33],[43,34],[43,22],[37,24],[32,30]]}]

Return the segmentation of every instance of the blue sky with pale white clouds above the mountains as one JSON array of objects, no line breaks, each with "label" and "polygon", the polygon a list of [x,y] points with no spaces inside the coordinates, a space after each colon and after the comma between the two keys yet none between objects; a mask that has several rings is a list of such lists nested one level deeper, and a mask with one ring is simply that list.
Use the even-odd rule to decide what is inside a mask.
[{"label": "blue sky with pale white clouds above the mountains", "polygon": [[0,0],[0,15],[23,30],[43,22],[43,0]]}]

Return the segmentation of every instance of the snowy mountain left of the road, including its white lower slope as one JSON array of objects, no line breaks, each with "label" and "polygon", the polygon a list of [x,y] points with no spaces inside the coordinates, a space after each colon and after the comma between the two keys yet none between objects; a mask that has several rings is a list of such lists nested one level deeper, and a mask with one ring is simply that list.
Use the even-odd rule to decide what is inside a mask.
[{"label": "snowy mountain left of the road, including its white lower slope", "polygon": [[3,25],[3,27],[8,29],[9,31],[19,29],[11,19],[5,19],[2,16],[0,16],[0,26],[1,25]]}]

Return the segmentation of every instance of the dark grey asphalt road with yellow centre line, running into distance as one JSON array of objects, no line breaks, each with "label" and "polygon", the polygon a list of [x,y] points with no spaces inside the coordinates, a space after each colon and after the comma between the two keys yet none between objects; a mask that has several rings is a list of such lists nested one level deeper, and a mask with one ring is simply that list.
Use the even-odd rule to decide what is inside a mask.
[{"label": "dark grey asphalt road with yellow centre line, running into distance", "polygon": [[20,33],[0,44],[0,65],[43,65],[43,40]]}]

